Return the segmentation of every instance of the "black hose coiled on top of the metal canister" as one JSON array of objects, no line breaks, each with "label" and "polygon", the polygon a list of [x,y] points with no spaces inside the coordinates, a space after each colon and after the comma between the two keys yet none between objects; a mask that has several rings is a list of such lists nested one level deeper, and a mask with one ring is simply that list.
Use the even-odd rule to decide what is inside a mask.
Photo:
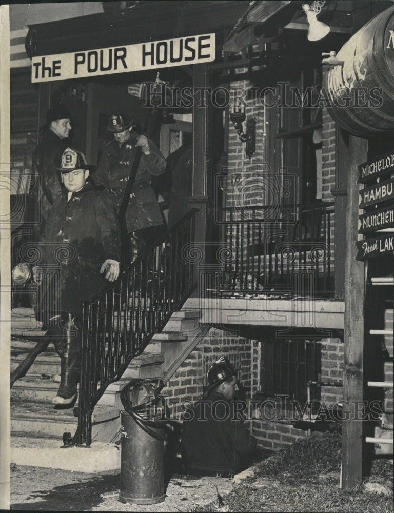
[{"label": "black hose coiled on top of the metal canister", "polygon": [[[134,406],[132,404],[132,401],[130,400],[130,388],[138,387],[138,389],[140,390],[141,387],[144,387],[146,385],[150,385],[149,388],[151,388],[153,397],[150,397],[149,400],[146,400],[142,404],[137,404]],[[160,395],[160,392],[162,391],[164,385],[165,382],[160,378],[133,379],[121,391],[121,401],[123,407],[125,408],[125,411],[134,419],[136,424],[139,425],[141,429],[143,429],[151,437],[160,441],[164,441],[167,438],[167,436],[160,435],[159,433],[153,431],[151,428],[162,428],[163,421],[158,422],[146,419],[145,417],[140,415],[139,412],[146,410],[151,406],[157,406],[159,402],[161,402],[161,404],[164,405],[164,407],[166,408],[165,399],[163,396]],[[164,422],[166,421],[164,420]]]}]

